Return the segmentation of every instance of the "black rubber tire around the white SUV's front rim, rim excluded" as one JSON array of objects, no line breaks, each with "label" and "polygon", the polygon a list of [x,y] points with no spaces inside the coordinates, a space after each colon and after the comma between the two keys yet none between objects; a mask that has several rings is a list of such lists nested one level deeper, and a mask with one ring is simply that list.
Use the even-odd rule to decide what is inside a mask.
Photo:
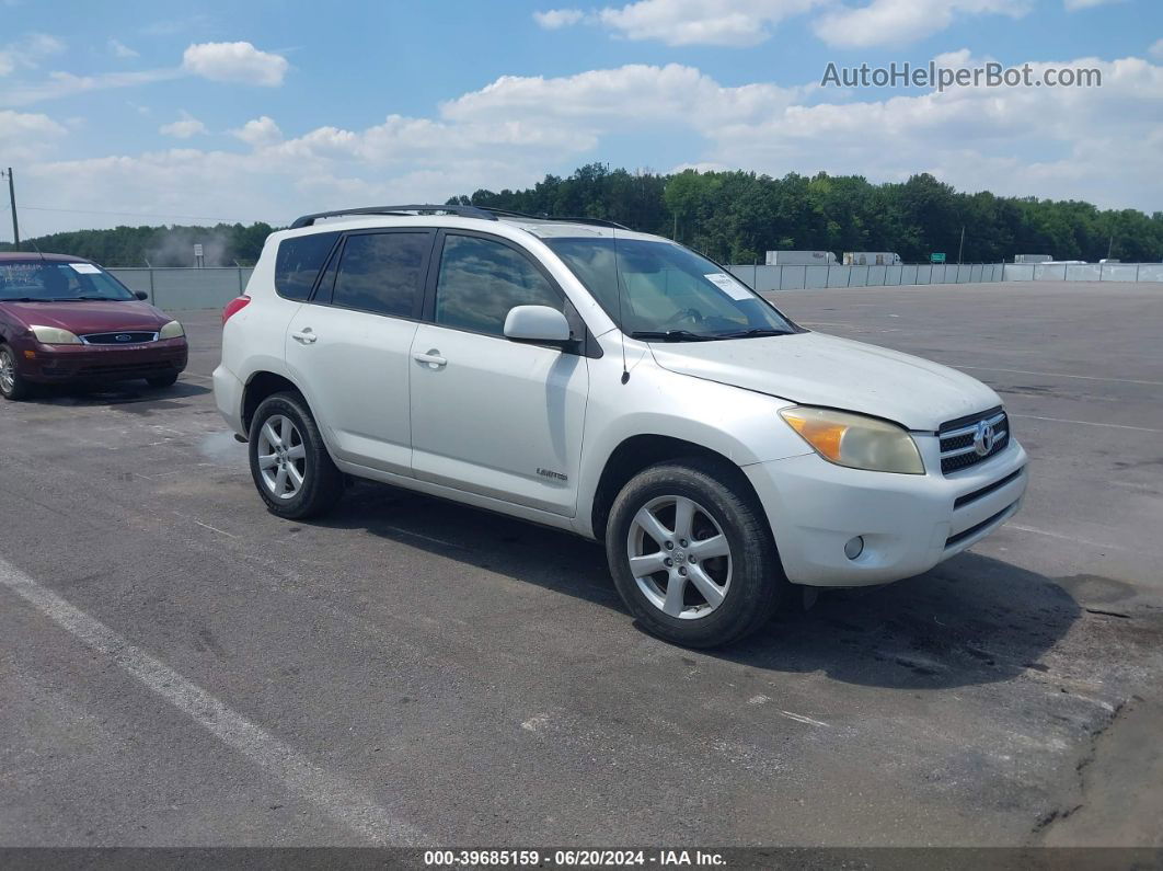
[{"label": "black rubber tire around the white SUV's front rim, rim excluded", "polygon": [[[721,604],[706,616],[682,619],[663,613],[630,570],[627,547],[635,515],[665,497],[693,500],[701,509],[699,520],[704,524],[707,517],[713,520],[730,547],[730,583]],[[650,466],[630,479],[611,509],[606,557],[618,592],[637,621],[654,635],[684,647],[720,647],[756,631],[771,620],[787,587],[766,516],[743,473],[729,463],[702,457]]]}]

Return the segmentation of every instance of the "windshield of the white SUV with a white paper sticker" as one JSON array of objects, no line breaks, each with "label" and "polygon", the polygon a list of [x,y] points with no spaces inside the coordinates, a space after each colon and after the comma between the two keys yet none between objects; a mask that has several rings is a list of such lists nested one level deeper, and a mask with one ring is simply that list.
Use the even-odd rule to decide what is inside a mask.
[{"label": "windshield of the white SUV with a white paper sticker", "polygon": [[622,238],[544,242],[630,336],[697,342],[798,331],[775,306],[721,266],[673,242]]}]

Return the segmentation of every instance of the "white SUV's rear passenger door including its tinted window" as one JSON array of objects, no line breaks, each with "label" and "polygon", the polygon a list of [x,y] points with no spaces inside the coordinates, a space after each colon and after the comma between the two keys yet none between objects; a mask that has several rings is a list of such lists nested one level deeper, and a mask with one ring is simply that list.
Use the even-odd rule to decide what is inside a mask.
[{"label": "white SUV's rear passenger door including its tinted window", "polygon": [[411,349],[434,235],[345,234],[291,320],[287,365],[337,459],[412,474]]}]

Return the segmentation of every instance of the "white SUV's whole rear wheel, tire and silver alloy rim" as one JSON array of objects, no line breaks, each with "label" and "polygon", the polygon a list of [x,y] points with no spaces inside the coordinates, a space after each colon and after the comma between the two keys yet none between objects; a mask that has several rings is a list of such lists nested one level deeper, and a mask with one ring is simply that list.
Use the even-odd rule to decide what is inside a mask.
[{"label": "white SUV's whole rear wheel, tire and silver alloy rim", "polygon": [[250,422],[248,452],[255,487],[280,517],[322,514],[343,492],[343,474],[297,393],[276,393],[263,400]]}]

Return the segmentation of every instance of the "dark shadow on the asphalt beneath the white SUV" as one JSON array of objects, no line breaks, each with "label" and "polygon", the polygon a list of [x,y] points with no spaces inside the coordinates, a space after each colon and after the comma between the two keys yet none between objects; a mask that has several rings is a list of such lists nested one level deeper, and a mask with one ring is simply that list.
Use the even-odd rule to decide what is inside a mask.
[{"label": "dark shadow on the asphalt beneath the white SUV", "polygon": [[[627,614],[629,623],[601,545],[568,533],[368,483],[349,490],[335,512],[314,523],[365,529],[604,605]],[[825,591],[806,612],[802,590],[791,587],[790,601],[756,635],[706,652],[756,669],[818,671],[849,684],[948,688],[1047,670],[1039,658],[1082,611],[1055,579],[971,552],[897,584]]]}]

